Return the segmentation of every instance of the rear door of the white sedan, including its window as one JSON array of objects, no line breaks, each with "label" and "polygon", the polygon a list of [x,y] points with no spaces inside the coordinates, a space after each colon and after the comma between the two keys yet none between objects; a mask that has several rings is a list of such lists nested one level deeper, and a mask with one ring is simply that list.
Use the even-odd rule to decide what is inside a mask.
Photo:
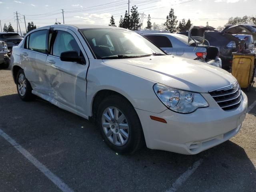
[{"label": "rear door of the white sedan, including its window", "polygon": [[43,29],[29,34],[20,51],[22,66],[33,90],[46,95],[51,90],[46,71],[48,32]]}]

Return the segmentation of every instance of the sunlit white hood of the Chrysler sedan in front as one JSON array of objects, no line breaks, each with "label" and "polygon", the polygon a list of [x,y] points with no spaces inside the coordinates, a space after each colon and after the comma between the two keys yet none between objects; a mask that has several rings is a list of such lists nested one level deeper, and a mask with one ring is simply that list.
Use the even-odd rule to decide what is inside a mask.
[{"label": "sunlit white hood of the Chrysler sedan in front", "polygon": [[103,62],[110,67],[155,83],[193,92],[208,92],[236,81],[225,70],[172,55],[103,60]]}]

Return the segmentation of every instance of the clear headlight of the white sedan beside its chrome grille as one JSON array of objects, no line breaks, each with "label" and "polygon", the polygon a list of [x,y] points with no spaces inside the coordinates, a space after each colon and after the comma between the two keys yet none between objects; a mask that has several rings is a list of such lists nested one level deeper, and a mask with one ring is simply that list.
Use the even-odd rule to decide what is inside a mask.
[{"label": "clear headlight of the white sedan beside its chrome grille", "polygon": [[191,113],[197,108],[209,106],[199,93],[182,91],[162,84],[155,84],[153,88],[160,101],[175,112]]}]

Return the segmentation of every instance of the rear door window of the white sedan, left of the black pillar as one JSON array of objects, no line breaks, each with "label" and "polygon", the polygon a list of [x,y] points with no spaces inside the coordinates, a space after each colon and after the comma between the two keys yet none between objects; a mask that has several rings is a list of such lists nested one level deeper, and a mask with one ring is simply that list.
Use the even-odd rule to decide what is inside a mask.
[{"label": "rear door window of the white sedan, left of the black pillar", "polygon": [[29,41],[28,49],[47,54],[47,49],[46,49],[47,34],[48,34],[48,30],[40,30],[40,31],[31,33],[29,35],[29,38],[27,38],[27,40]]}]

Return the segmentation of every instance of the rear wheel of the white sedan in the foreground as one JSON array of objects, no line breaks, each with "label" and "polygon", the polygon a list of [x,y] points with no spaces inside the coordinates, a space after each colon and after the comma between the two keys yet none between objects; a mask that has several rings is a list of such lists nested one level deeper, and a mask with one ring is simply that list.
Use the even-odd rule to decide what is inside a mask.
[{"label": "rear wheel of the white sedan in the foreground", "polygon": [[25,73],[22,69],[17,73],[16,87],[18,95],[23,101],[30,101],[34,98],[30,82],[26,79]]}]

